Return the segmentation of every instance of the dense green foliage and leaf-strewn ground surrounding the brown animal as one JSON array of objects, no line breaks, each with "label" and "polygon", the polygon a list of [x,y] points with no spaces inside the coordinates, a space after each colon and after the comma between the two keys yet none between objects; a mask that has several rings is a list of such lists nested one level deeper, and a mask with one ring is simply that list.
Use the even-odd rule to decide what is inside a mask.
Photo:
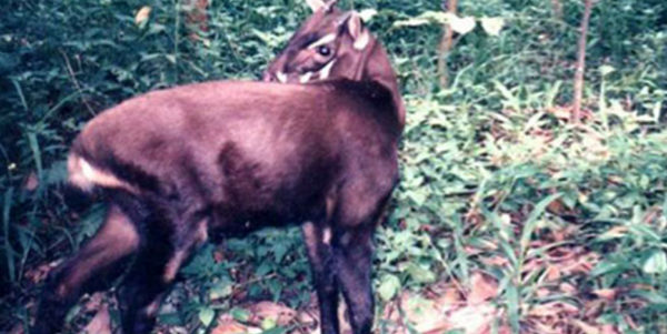
[{"label": "dense green foliage and leaf-strewn ground surrounding the brown animal", "polygon": [[[377,236],[378,332],[667,333],[667,3],[595,3],[573,123],[583,1],[461,0],[477,27],[455,36],[448,87],[442,3],[341,2],[377,11],[368,24],[408,107],[402,179]],[[72,213],[60,189],[86,121],[150,90],[257,79],[309,14],[302,1],[210,1],[202,31],[188,3],[4,0],[1,332],[28,323],[46,273],[103,214]],[[500,33],[482,18],[502,19]],[[315,327],[297,229],[207,245],[182,276],[165,333]],[[88,296],[68,330],[102,332],[117,318],[108,305],[111,295]]]}]

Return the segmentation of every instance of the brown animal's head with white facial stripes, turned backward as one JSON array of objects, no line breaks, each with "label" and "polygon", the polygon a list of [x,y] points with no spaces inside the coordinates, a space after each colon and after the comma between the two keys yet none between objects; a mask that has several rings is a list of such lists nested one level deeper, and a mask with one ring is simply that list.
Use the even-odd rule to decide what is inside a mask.
[{"label": "brown animal's head with white facial stripes, turned backward", "polygon": [[265,81],[309,82],[328,78],[361,80],[375,38],[355,11],[340,11],[336,0],[309,0],[313,14],[265,72]]}]

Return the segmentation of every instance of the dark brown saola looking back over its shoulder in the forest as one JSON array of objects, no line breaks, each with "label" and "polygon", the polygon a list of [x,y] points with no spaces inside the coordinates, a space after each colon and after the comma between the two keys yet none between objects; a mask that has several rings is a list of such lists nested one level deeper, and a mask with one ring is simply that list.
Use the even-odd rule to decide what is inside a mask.
[{"label": "dark brown saola looking back over its shoulder in the forest", "polygon": [[149,333],[179,267],[210,233],[293,222],[303,226],[322,333],[339,332],[339,290],[354,332],[369,333],[371,236],[398,180],[404,109],[379,43],[331,3],[267,74],[325,77],[186,85],[91,120],[72,144],[69,183],[103,194],[109,211],[51,273],[31,333],[57,332],[81,294],[106,289],[128,263],[122,330]]}]

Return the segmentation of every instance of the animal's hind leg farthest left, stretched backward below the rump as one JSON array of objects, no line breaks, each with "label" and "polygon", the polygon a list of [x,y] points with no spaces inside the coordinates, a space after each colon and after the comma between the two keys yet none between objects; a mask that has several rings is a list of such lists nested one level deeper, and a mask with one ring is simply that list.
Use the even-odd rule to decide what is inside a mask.
[{"label": "animal's hind leg farthest left, stretched backward below the rump", "polygon": [[30,333],[54,333],[69,308],[83,293],[106,289],[139,246],[135,224],[111,204],[97,234],[77,253],[57,267],[47,281]]}]

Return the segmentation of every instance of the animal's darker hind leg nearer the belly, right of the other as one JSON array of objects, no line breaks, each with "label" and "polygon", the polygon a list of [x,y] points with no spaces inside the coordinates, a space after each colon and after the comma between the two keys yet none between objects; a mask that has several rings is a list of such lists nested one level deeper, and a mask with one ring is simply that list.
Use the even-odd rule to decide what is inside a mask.
[{"label": "animal's darker hind leg nearer the belly, right of the other", "polygon": [[[190,226],[146,225],[141,249],[119,292],[125,334],[150,333],[162,297],[169,291],[178,270],[207,239],[206,221]],[[181,230],[175,231],[179,227]]]}]

